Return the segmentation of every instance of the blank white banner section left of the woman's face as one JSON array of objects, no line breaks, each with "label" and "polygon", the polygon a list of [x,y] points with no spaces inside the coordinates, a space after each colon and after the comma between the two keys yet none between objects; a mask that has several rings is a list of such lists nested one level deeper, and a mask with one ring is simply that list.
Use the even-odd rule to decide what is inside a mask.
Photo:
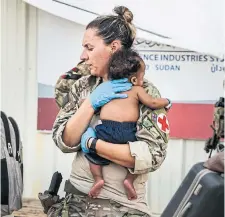
[{"label": "blank white banner section left of the woman's face", "polygon": [[38,10],[38,82],[55,85],[80,61],[85,27]]}]

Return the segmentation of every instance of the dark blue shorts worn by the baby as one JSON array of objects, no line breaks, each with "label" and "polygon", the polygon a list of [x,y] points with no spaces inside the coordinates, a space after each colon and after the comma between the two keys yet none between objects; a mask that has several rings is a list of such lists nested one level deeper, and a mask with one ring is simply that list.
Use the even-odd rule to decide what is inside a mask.
[{"label": "dark blue shorts worn by the baby", "polygon": [[[103,120],[102,124],[95,127],[98,139],[114,144],[126,144],[127,142],[137,141],[135,136],[137,132],[136,122],[117,122]],[[97,154],[86,154],[85,157],[97,165],[108,165],[109,160],[98,156]]]}]

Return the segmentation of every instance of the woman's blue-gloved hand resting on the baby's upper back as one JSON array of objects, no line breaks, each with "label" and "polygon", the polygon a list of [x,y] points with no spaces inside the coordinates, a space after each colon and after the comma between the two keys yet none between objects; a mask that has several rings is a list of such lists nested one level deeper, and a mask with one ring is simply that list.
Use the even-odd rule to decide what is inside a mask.
[{"label": "woman's blue-gloved hand resting on the baby's upper back", "polygon": [[103,82],[90,95],[93,109],[96,111],[112,99],[127,98],[127,94],[118,93],[128,91],[131,87],[127,78]]}]

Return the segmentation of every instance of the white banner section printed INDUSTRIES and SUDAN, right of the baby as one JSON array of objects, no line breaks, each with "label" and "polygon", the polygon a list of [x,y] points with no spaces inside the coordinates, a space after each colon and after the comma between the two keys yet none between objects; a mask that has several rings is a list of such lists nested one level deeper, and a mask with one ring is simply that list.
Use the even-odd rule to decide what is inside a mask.
[{"label": "white banner section printed INDUSTRIES and SUDAN, right of the baby", "polygon": [[224,59],[158,44],[137,45],[145,77],[173,101],[215,101],[223,96]]}]

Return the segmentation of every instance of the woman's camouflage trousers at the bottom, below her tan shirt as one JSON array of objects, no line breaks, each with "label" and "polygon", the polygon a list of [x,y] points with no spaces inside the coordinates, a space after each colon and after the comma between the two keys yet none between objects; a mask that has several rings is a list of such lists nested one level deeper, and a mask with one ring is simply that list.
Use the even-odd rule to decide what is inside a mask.
[{"label": "woman's camouflage trousers at the bottom, below her tan shirt", "polygon": [[85,194],[68,194],[48,211],[49,217],[149,217],[139,210],[125,207],[113,200],[91,199]]}]

